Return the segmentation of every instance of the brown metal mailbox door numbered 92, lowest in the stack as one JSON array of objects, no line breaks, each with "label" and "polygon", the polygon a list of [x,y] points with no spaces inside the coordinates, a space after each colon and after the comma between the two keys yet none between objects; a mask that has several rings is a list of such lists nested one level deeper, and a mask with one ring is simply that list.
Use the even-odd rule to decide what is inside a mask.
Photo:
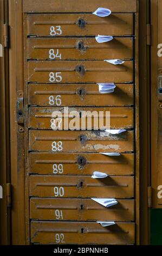
[{"label": "brown metal mailbox door numbered 92, lowest in the stack", "polygon": [[135,243],[135,224],[116,222],[101,227],[96,222],[31,221],[31,243],[126,245]]}]

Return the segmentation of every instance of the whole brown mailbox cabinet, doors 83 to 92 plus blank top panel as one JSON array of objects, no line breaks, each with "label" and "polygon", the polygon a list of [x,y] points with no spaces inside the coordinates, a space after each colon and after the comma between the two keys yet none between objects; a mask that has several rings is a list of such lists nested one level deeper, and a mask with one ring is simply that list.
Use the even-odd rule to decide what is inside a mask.
[{"label": "whole brown mailbox cabinet, doors 83 to 92 plus blank top panel", "polygon": [[[138,1],[21,2],[14,63],[25,241],[138,244]],[[99,7],[111,13],[95,15]]]}]

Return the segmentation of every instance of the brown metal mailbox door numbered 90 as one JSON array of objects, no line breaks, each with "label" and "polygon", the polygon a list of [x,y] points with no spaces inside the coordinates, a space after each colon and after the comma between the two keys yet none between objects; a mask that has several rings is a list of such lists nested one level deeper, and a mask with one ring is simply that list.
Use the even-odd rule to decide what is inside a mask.
[{"label": "brown metal mailbox door numbered 90", "polygon": [[134,176],[30,175],[30,197],[133,198]]}]

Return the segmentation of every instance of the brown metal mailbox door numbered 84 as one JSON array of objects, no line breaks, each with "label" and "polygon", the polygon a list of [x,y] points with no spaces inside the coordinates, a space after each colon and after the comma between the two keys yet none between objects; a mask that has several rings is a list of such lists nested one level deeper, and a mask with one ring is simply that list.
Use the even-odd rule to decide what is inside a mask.
[{"label": "brown metal mailbox door numbered 84", "polygon": [[133,59],[133,38],[28,38],[28,59]]}]

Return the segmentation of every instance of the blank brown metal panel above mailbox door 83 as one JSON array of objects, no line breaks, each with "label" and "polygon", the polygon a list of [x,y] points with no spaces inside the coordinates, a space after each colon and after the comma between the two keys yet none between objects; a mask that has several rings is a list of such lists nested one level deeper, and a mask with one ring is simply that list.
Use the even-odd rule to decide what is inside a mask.
[{"label": "blank brown metal panel above mailbox door 83", "polygon": [[93,13],[98,7],[113,13],[135,13],[137,0],[23,0],[24,13]]}]

